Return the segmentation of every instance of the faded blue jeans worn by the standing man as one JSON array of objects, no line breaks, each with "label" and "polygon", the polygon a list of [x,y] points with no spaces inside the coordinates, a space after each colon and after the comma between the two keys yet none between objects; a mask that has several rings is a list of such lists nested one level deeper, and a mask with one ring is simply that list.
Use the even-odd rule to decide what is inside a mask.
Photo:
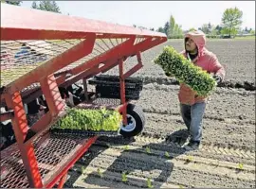
[{"label": "faded blue jeans worn by the standing man", "polygon": [[206,110],[206,102],[191,105],[180,104],[183,121],[190,131],[192,141],[200,142],[202,139],[202,120]]}]

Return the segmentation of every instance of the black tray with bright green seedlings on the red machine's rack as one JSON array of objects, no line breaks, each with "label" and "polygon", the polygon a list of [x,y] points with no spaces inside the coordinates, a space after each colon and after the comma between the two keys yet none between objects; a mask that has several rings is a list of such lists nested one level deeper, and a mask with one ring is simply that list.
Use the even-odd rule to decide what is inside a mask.
[{"label": "black tray with bright green seedlings on the red machine's rack", "polygon": [[122,116],[118,111],[69,108],[63,118],[50,129],[55,134],[82,136],[119,135]]}]

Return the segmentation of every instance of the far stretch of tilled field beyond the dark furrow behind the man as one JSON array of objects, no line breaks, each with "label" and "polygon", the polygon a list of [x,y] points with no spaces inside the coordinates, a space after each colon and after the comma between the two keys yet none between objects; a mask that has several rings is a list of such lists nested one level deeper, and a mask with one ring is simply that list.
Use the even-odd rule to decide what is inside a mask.
[{"label": "far stretch of tilled field beyond the dark furrow behind the man", "polygon": [[[134,76],[144,77],[146,83],[171,84],[172,78],[165,77],[162,69],[153,62],[165,45],[174,46],[178,52],[184,49],[182,40],[172,40],[144,52],[142,54],[144,67]],[[222,86],[256,90],[254,40],[210,40],[207,42],[207,48],[216,54],[220,63],[226,67],[227,76]],[[135,65],[136,61],[136,57],[127,60],[126,68]],[[107,74],[117,73],[119,73],[117,69],[112,69]]]}]

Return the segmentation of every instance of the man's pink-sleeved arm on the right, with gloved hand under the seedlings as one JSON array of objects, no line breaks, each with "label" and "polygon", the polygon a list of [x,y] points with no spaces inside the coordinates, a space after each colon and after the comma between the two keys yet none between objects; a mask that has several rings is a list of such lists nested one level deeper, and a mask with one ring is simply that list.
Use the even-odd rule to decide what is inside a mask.
[{"label": "man's pink-sleeved arm on the right, with gloved hand under the seedlings", "polygon": [[223,81],[226,76],[224,66],[219,62],[214,54],[210,58],[209,71],[214,74],[214,78],[220,79],[220,82]]}]

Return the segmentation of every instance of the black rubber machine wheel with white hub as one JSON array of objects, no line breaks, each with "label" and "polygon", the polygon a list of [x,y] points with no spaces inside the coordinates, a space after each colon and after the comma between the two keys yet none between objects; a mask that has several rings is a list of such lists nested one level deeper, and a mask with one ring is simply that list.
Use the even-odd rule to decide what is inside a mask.
[{"label": "black rubber machine wheel with white hub", "polygon": [[139,134],[145,125],[145,116],[142,109],[134,104],[128,104],[127,122],[128,125],[122,126],[119,133],[125,138]]}]

